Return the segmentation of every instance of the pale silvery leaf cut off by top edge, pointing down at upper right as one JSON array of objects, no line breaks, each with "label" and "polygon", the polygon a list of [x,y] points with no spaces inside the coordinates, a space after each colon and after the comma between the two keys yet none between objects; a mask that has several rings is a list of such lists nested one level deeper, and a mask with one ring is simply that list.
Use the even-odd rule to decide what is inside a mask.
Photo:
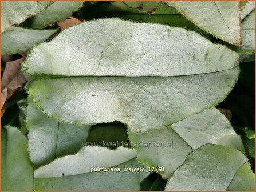
[{"label": "pale silvery leaf cut off by top edge, pointing down at upper right", "polygon": [[168,1],[184,17],[208,33],[241,45],[241,23],[238,1]]}]

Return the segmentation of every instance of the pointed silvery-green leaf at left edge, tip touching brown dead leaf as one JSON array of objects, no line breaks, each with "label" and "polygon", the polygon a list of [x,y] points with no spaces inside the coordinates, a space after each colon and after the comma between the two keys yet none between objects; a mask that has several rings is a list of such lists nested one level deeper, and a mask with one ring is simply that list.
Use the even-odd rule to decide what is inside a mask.
[{"label": "pointed silvery-green leaf at left edge, tip touching brown dead leaf", "polygon": [[22,27],[9,27],[1,34],[2,54],[16,54],[29,50],[56,33],[58,29],[33,30]]}]

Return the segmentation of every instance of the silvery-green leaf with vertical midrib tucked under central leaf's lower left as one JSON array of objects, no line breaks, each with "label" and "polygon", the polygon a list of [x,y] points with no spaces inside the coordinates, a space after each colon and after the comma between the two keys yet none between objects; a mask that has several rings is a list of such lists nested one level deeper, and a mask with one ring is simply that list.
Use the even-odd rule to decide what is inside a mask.
[{"label": "silvery-green leaf with vertical midrib tucked under central leaf's lower left", "polygon": [[82,147],[90,126],[60,123],[47,117],[28,99],[26,126],[29,129],[29,155],[34,165],[76,153]]}]

